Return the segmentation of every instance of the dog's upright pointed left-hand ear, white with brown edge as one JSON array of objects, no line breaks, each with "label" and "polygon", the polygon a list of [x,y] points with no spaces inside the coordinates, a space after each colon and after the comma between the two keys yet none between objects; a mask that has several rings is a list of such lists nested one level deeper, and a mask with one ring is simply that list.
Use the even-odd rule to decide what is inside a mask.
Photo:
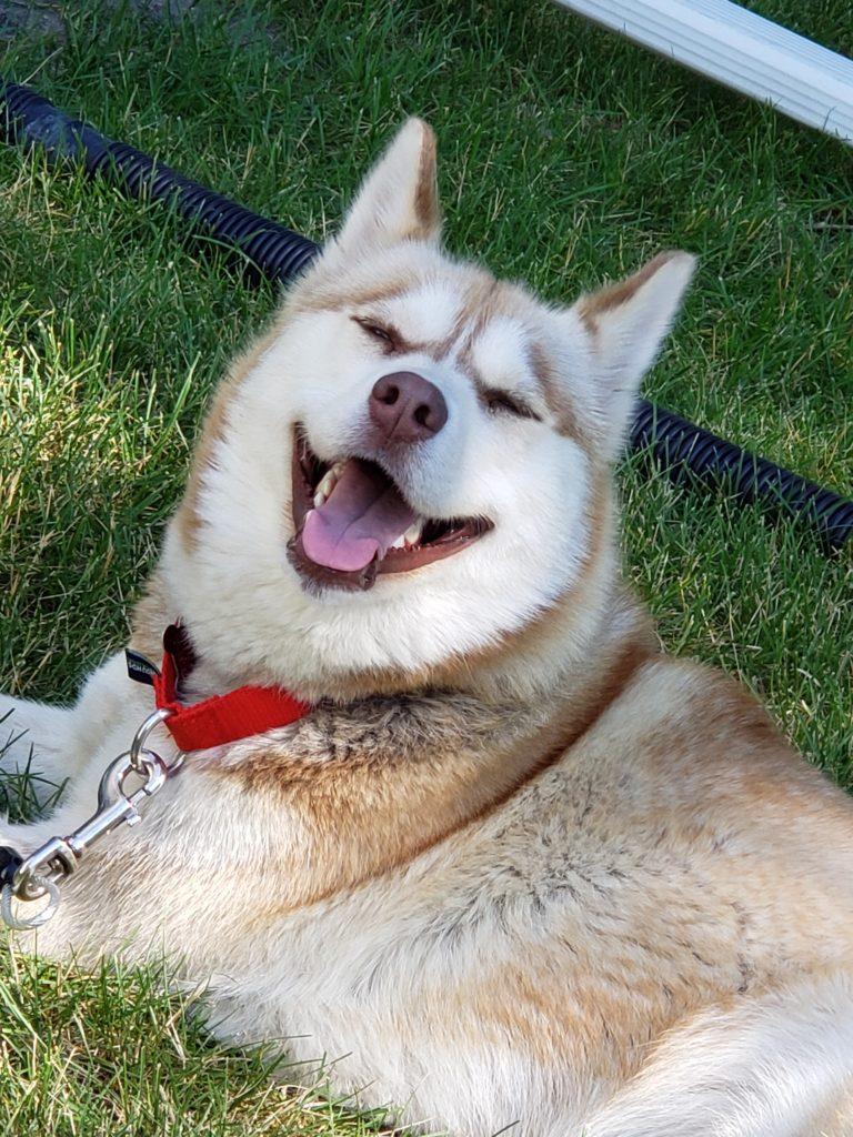
[{"label": "dog's upright pointed left-hand ear, white with brown edge", "polygon": [[436,241],[440,230],[436,135],[409,118],[365,179],[336,246],[356,258],[400,241]]}]

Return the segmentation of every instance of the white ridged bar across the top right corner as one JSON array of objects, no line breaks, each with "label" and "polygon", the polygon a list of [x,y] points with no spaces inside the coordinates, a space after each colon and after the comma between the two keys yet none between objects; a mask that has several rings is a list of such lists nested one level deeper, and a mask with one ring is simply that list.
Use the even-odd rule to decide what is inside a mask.
[{"label": "white ridged bar across the top right corner", "polygon": [[557,0],[853,144],[853,59],[729,0]]}]

